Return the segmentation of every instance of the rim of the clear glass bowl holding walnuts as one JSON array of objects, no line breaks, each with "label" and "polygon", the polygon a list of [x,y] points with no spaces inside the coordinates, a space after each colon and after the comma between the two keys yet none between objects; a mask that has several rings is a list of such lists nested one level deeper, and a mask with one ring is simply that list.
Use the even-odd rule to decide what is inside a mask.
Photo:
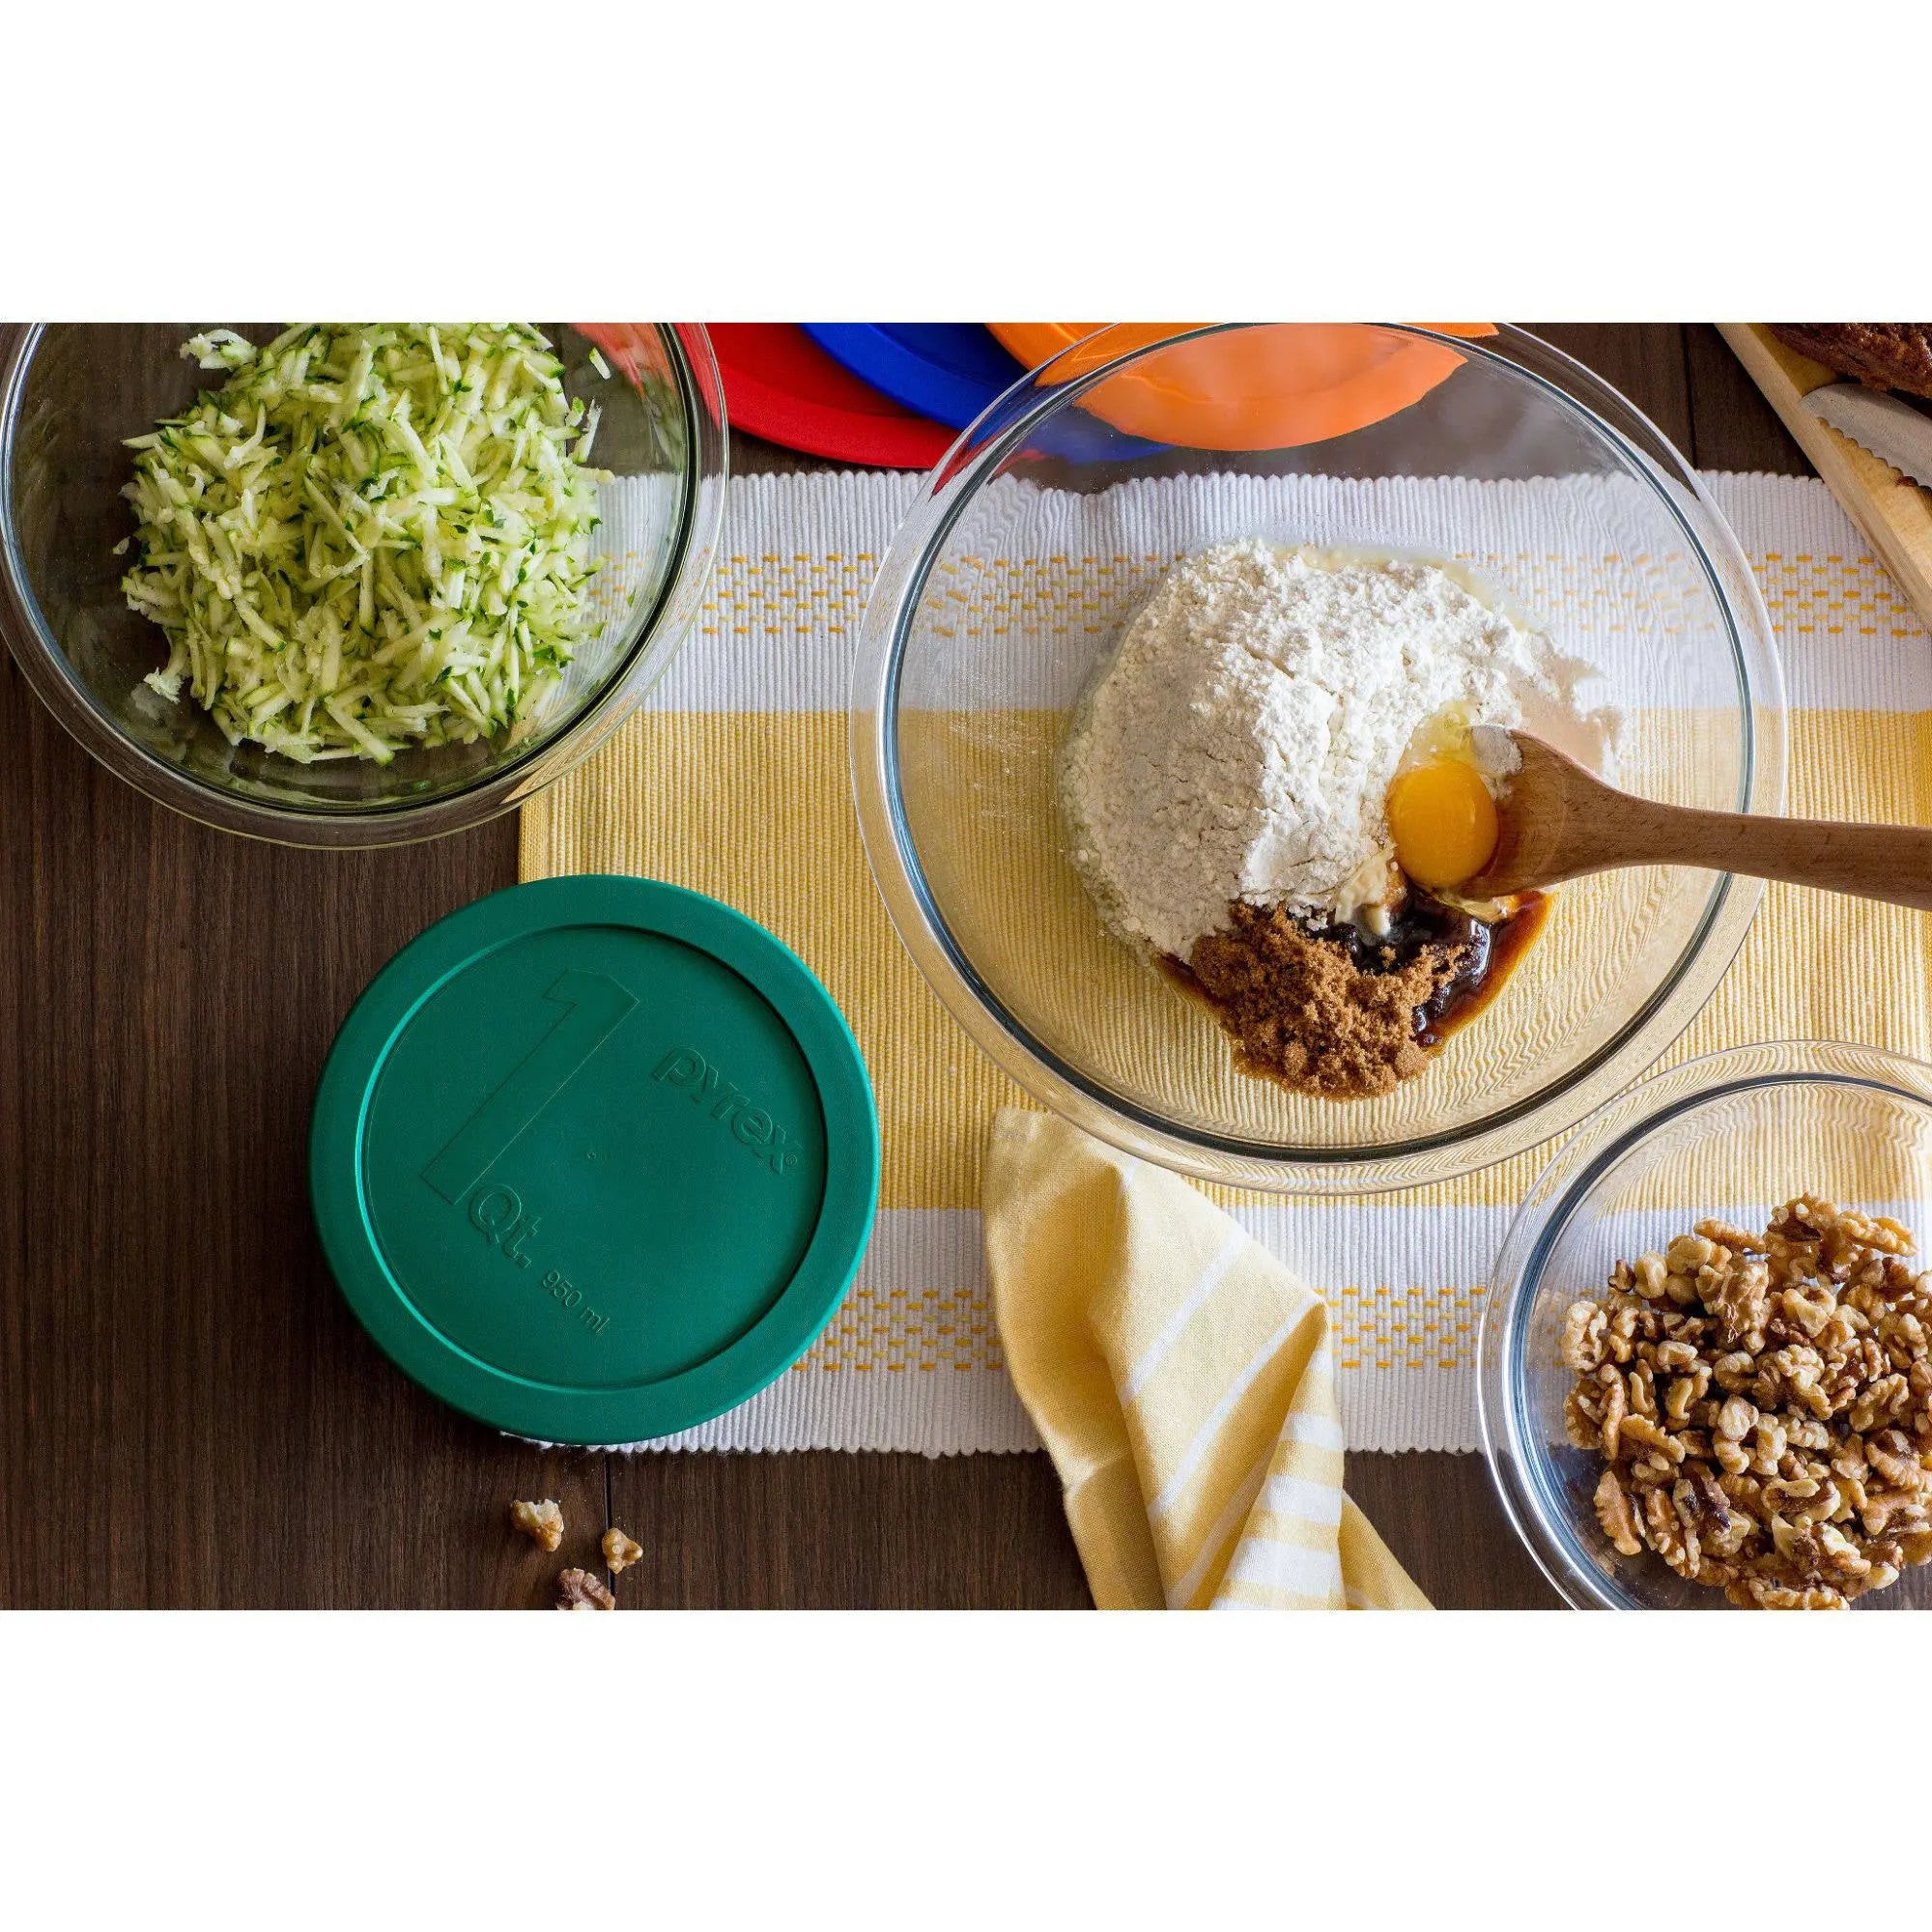
[{"label": "rim of the clear glass bowl holding walnuts", "polygon": [[1546,1256],[1604,1171],[1690,1107],[1725,1094],[1789,1086],[1864,1086],[1932,1107],[1932,1066],[1847,1039],[1770,1039],[1679,1061],[1605,1101],[1530,1184],[1497,1250],[1476,1325],[1476,1420],[1490,1480],[1522,1546],[1571,1609],[1646,1607],[1590,1561],[1567,1513],[1546,1505],[1522,1453],[1524,1401],[1517,1325]]}]

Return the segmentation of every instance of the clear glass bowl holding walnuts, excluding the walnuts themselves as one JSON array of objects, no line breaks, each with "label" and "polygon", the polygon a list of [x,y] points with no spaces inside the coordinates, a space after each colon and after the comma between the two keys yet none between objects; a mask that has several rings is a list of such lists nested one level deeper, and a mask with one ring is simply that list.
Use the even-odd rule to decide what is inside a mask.
[{"label": "clear glass bowl holding walnuts, excluding the walnuts themselves", "polygon": [[[1604,1536],[1590,1501],[1602,1463],[1563,1434],[1571,1302],[1704,1215],[1756,1231],[1793,1194],[1932,1238],[1932,1066],[1830,1041],[1710,1053],[1613,1099],[1530,1188],[1484,1296],[1482,1443],[1509,1519],[1573,1607],[1731,1605]],[[1932,1607],[1932,1565],[1855,1607]]]}]

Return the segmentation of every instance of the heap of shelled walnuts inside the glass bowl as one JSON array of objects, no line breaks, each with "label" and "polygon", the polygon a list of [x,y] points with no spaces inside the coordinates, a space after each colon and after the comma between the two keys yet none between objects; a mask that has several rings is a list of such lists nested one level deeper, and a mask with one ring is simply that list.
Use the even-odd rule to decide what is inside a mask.
[{"label": "heap of shelled walnuts inside the glass bowl", "polygon": [[1845,1609],[1932,1561],[1932,1273],[1812,1194],[1698,1221],[1571,1306],[1563,1434],[1598,1522],[1741,1609]]}]

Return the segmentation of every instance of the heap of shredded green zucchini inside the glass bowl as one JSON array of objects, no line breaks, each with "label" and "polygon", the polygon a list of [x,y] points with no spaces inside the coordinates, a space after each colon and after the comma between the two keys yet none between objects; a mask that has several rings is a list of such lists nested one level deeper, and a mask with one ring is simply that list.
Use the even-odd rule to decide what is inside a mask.
[{"label": "heap of shredded green zucchini inside the glass bowl", "polygon": [[131,437],[128,603],[230,744],[303,763],[527,724],[599,630],[597,412],[524,323],[187,342],[218,390]]}]

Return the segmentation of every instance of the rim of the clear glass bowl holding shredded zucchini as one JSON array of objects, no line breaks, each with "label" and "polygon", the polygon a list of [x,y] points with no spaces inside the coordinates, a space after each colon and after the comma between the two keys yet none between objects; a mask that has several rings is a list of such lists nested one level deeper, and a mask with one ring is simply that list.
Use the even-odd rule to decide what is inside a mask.
[{"label": "rim of the clear glass bowl holding shredded zucchini", "polygon": [[[68,668],[33,585],[14,527],[14,437],[33,357],[46,323],[0,325],[0,634],[21,676],[54,719],[116,777],[156,804],[220,831],[274,844],[367,848],[410,844],[468,831],[520,806],[589,757],[670,668],[690,634],[724,524],[730,433],[724,384],[701,323],[655,323],[676,381],[686,423],[686,489],[670,564],[657,605],[624,659],[553,738],[506,759],[468,784],[429,800],[369,800],[323,808],[245,798],[155,757],[104,715]],[[653,645],[670,638],[651,659]],[[649,674],[641,676],[649,665]]]}]

